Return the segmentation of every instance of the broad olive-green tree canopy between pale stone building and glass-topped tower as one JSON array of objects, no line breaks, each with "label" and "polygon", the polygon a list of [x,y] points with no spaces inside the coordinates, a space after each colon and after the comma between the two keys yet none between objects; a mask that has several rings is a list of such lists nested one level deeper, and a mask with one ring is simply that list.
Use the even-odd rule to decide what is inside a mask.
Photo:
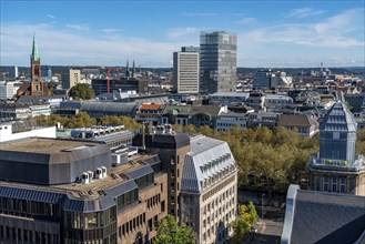
[{"label": "broad olive-green tree canopy between pale stone building and glass-topped tower", "polygon": [[318,136],[301,138],[295,130],[282,126],[233,126],[217,132],[209,126],[186,125],[183,130],[226,141],[236,161],[239,184],[265,191],[286,192],[291,183],[298,183],[306,175],[310,154],[318,151],[320,144]]}]

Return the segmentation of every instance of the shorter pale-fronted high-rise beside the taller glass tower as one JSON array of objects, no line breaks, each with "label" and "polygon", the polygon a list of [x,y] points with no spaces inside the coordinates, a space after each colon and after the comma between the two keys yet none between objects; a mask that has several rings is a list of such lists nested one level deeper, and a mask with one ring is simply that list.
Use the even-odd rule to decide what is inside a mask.
[{"label": "shorter pale-fronted high-rise beside the taller glass tower", "polygon": [[175,93],[199,93],[199,48],[183,47],[173,53]]}]

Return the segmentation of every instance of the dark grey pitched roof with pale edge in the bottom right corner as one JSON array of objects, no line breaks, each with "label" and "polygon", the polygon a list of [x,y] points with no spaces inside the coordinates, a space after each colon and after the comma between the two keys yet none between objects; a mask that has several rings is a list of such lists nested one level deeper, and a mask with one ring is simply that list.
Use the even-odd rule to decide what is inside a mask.
[{"label": "dark grey pitched roof with pale edge in the bottom right corner", "polygon": [[[290,189],[293,190],[291,185]],[[290,243],[355,243],[365,233],[365,197],[338,193],[294,190]],[[290,191],[288,191],[290,194]],[[287,197],[290,200],[290,197]],[[284,234],[284,232],[283,232]],[[287,242],[284,242],[287,243]]]}]

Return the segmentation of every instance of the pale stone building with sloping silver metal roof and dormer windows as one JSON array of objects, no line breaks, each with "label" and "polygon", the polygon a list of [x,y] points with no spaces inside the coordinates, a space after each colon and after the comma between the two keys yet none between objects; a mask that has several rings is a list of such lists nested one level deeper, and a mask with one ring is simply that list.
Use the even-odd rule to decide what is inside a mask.
[{"label": "pale stone building with sloping silver metal roof and dormer windows", "polygon": [[180,222],[192,227],[196,243],[227,243],[235,220],[237,171],[226,142],[191,139],[180,191]]}]

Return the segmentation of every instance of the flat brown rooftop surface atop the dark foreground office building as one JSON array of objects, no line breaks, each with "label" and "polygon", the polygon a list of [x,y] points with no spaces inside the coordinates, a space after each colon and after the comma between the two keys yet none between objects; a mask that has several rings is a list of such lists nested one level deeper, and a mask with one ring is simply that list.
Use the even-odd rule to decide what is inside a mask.
[{"label": "flat brown rooftop surface atop the dark foreground office building", "polygon": [[1,144],[0,149],[7,151],[21,151],[32,153],[58,153],[71,152],[74,150],[87,149],[95,145],[100,145],[100,142],[30,138],[27,140],[12,141]]}]

